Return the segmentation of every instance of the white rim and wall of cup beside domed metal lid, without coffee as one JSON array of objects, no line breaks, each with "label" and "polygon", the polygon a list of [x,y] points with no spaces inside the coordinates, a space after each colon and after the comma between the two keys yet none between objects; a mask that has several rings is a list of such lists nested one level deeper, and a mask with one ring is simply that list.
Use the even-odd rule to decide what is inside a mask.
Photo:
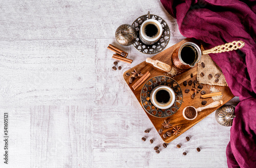
[{"label": "white rim and wall of cup beside domed metal lid, without coffee", "polygon": [[[148,24],[153,24],[157,27],[157,33],[153,37],[148,37],[145,32],[145,28]],[[162,36],[163,33],[163,27],[161,23],[155,19],[148,19],[145,20],[141,26],[140,26],[140,32],[139,32],[139,38],[142,41],[142,43],[147,45],[153,45],[155,44]]]}]

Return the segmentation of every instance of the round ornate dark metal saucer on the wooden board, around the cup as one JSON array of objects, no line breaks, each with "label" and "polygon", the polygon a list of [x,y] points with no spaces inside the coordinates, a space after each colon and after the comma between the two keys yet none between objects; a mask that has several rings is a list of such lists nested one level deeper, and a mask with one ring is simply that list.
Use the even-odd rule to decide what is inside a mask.
[{"label": "round ornate dark metal saucer on the wooden board, around the cup", "polygon": [[[175,93],[175,102],[174,104],[167,109],[159,109],[155,107],[150,100],[151,91],[160,85],[165,85],[173,89]],[[168,76],[156,76],[148,80],[143,86],[140,94],[141,104],[145,111],[155,117],[164,118],[168,116],[172,116],[178,111],[182,104],[183,95],[181,88],[177,81]]]}]

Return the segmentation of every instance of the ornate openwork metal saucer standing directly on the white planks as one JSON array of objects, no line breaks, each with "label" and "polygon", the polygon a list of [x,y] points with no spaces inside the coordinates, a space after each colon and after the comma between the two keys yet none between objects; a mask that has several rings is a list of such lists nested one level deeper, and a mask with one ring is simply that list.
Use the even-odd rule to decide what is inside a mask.
[{"label": "ornate openwork metal saucer standing directly on the white planks", "polygon": [[[139,31],[140,31],[140,25],[143,21],[147,19],[156,19],[159,21],[163,27],[163,33],[161,38],[153,45],[146,45],[141,42],[139,39]],[[170,30],[168,24],[162,19],[160,16],[157,15],[151,15],[150,12],[147,13],[147,15],[142,15],[138,17],[132,24],[136,31],[137,31],[137,38],[136,41],[133,43],[133,46],[140,52],[146,53],[146,54],[155,54],[158,52],[161,52],[168,44],[170,40]]]}]

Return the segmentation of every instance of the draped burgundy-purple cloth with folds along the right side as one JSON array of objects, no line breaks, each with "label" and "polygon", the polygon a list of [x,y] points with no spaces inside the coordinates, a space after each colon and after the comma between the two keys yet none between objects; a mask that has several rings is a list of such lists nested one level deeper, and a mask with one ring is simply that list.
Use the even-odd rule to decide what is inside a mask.
[{"label": "draped burgundy-purple cloth with folds along the right side", "polygon": [[226,42],[245,42],[240,50],[209,55],[221,68],[233,95],[240,98],[226,149],[227,164],[256,167],[256,1],[161,3],[177,19],[181,34],[200,40],[205,49]]}]

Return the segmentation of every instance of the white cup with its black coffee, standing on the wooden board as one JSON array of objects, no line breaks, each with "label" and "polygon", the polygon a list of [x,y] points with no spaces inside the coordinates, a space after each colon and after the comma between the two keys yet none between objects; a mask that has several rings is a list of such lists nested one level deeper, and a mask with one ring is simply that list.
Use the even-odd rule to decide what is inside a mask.
[{"label": "white cup with its black coffee, standing on the wooden board", "polygon": [[161,85],[151,91],[150,100],[155,107],[167,109],[174,104],[175,93],[170,87]]}]

